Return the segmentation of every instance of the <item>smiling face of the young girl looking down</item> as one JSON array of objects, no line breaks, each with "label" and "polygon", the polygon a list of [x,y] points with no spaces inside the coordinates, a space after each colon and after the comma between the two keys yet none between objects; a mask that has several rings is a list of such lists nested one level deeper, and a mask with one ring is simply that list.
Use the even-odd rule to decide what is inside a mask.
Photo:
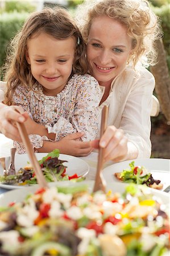
[{"label": "smiling face of the young girl looking down", "polygon": [[57,40],[44,32],[28,40],[27,62],[44,94],[56,96],[64,89],[72,73],[74,49],[74,38]]}]

